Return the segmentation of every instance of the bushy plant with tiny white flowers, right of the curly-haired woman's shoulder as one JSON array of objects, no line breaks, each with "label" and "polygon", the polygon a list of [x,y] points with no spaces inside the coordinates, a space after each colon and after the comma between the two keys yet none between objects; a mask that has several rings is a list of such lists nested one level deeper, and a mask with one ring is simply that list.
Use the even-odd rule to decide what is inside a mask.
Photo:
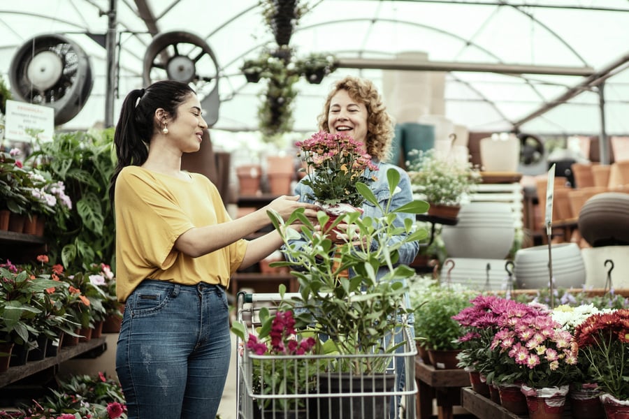
[{"label": "bushy plant with tiny white flowers, right of the curly-haired woman's shoulder", "polygon": [[431,207],[458,207],[465,195],[482,182],[478,168],[472,163],[452,161],[435,149],[411,150],[408,155],[413,157],[406,162],[411,183]]}]

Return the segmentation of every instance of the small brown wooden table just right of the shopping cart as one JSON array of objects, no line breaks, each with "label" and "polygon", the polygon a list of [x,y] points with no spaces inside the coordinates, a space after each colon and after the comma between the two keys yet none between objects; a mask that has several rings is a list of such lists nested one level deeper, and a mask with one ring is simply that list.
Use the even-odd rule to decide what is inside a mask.
[{"label": "small brown wooden table just right of the shopping cart", "polygon": [[437,399],[439,419],[452,419],[453,406],[461,406],[461,388],[470,386],[470,374],[464,369],[435,369],[419,357],[415,359],[417,418],[428,419],[433,414],[433,398]]}]

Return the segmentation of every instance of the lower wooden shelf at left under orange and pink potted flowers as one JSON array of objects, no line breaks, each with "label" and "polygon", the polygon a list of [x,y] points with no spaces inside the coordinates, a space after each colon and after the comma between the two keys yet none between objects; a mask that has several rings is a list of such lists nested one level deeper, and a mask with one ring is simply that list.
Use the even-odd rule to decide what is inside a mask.
[{"label": "lower wooden shelf at left under orange and pink potted flowers", "polygon": [[96,339],[90,339],[87,342],[80,342],[76,346],[62,346],[57,353],[57,356],[51,356],[44,358],[41,361],[27,362],[25,365],[17,365],[15,367],[9,367],[6,372],[0,374],[0,388],[15,381],[26,378],[32,374],[43,371],[51,367],[56,367],[64,361],[77,357],[78,355],[85,354],[89,351],[99,350],[101,353],[106,351],[106,337],[98,337]]}]

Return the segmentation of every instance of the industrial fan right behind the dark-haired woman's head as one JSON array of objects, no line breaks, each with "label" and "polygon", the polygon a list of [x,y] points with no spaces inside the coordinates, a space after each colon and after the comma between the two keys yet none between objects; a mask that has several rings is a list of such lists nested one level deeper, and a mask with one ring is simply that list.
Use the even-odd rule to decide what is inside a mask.
[{"label": "industrial fan right behind the dark-haired woman's head", "polygon": [[205,110],[208,126],[218,120],[219,71],[210,46],[194,34],[164,32],[153,38],[144,55],[143,82],[177,80],[190,84]]}]

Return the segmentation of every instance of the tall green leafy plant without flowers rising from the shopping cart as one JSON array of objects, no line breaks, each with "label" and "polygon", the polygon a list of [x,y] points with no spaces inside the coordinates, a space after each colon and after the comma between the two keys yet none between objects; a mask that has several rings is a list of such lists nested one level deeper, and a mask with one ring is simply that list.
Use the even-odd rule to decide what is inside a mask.
[{"label": "tall green leafy plant without flowers rising from the shopping cart", "polygon": [[[386,173],[391,196],[400,180],[396,170]],[[315,324],[319,333],[327,335],[340,355],[364,355],[373,353],[393,353],[396,345],[384,337],[393,337],[396,330],[405,325],[403,299],[407,292],[405,280],[412,277],[414,270],[406,265],[396,265],[398,249],[405,242],[421,239],[424,230],[415,230],[409,220],[403,227],[396,227],[393,221],[396,212],[421,213],[428,206],[423,201],[413,201],[391,210],[390,201],[382,207],[366,184],[359,182],[357,190],[366,200],[382,210],[382,217],[365,217],[352,212],[340,216],[331,226],[341,221],[356,225],[356,237],[366,237],[361,246],[354,246],[352,237],[346,244],[334,247],[331,240],[321,234],[303,211],[297,210],[284,223],[274,212],[269,216],[284,241],[286,262],[274,262],[275,266],[292,267],[292,274],[298,279],[298,297],[286,302],[291,308],[299,307],[297,316],[299,328]],[[319,212],[319,224],[324,226],[329,217]],[[301,234],[289,224],[303,223]],[[305,236],[306,244],[296,246],[293,239]],[[392,241],[393,236],[403,240]],[[375,243],[373,243],[375,242]],[[377,271],[386,267],[386,274],[377,279]],[[342,272],[351,269],[352,278]],[[345,372],[382,372],[390,360],[378,357],[357,356],[340,358],[339,368]]]}]

